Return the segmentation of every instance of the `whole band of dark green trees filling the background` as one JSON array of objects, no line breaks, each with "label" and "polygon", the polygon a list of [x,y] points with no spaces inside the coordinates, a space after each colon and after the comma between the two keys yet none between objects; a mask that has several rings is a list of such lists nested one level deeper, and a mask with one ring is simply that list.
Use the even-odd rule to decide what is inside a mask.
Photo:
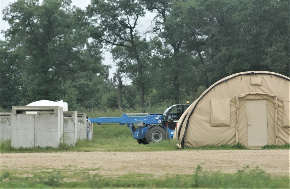
[{"label": "whole band of dark green trees filling the background", "polygon": [[[70,0],[18,0],[2,11],[10,28],[1,31],[0,106],[61,99],[71,108],[143,111],[148,102],[193,102],[242,71],[289,77],[289,7],[288,0],[92,0],[81,10]],[[155,17],[141,31],[148,12]],[[104,51],[117,65],[114,78]]]}]

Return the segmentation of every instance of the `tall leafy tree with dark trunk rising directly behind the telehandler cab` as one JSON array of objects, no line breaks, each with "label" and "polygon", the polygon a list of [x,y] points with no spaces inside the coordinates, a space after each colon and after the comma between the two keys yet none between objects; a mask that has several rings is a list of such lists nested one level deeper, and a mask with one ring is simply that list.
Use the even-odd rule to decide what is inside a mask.
[{"label": "tall leafy tree with dark trunk rising directly behind the telehandler cab", "polygon": [[[144,1],[149,11],[155,12],[155,26],[151,32],[156,33],[163,41],[162,59],[157,79],[162,88],[155,88],[162,98],[169,98],[179,103],[186,101],[188,89],[197,90],[197,80],[191,78],[198,71],[193,62],[194,54],[186,50],[189,37],[196,39],[197,32],[190,30],[187,6],[191,1]],[[191,34],[191,36],[189,36]],[[190,82],[188,82],[190,81]],[[164,90],[165,89],[165,90]]]}]

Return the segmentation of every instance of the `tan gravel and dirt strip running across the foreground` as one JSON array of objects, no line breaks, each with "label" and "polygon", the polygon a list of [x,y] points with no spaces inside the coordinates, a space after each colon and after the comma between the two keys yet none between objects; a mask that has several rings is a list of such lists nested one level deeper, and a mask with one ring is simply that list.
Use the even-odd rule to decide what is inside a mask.
[{"label": "tan gravel and dirt strip running across the foreground", "polygon": [[[95,168],[103,176],[143,173],[192,174],[202,170],[236,173],[256,166],[273,175],[289,175],[289,150],[1,153],[1,172],[48,168]],[[290,175],[289,175],[290,176]]]}]

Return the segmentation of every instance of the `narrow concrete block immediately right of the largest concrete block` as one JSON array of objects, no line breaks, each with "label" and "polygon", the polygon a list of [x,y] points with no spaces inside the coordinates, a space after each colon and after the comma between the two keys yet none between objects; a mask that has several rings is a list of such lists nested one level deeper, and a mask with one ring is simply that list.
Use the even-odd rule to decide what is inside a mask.
[{"label": "narrow concrete block immediately right of the largest concrete block", "polygon": [[[78,118],[77,111],[65,111],[64,115],[64,135],[66,143],[74,145],[78,139]],[[67,137],[67,138],[66,138]]]}]

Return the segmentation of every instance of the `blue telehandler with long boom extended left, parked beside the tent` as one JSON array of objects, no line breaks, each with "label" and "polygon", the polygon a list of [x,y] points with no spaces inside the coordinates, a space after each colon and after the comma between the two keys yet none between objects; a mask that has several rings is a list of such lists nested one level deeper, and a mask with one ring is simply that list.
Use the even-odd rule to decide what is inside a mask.
[{"label": "blue telehandler with long boom extended left, parked beside the tent", "polygon": [[177,111],[183,113],[188,107],[187,104],[175,104],[169,106],[163,113],[123,113],[121,117],[109,118],[88,118],[92,123],[119,123],[127,124],[131,129],[134,139],[139,144],[160,142],[164,139],[172,139],[178,120]]}]

